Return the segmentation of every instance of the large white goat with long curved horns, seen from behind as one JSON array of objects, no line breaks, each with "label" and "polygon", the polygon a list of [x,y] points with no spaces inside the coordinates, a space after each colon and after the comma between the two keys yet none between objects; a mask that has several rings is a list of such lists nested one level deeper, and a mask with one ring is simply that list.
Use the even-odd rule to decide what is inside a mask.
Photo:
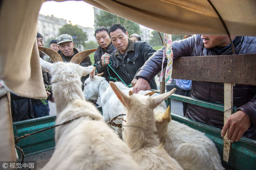
[{"label": "large white goat with long curved horns, seen from behind", "polygon": [[41,60],[42,67],[52,75],[56,124],[73,121],[56,127],[55,151],[43,170],[138,169],[127,145],[107,126],[95,106],[84,99],[80,78],[91,72],[93,66],[57,62],[60,56],[56,57],[59,59],[54,58],[53,64]]}]

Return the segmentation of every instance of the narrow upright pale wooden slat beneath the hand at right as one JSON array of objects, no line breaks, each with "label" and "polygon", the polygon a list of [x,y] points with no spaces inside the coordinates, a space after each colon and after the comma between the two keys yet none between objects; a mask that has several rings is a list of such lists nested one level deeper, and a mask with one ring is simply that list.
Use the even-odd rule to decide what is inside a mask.
[{"label": "narrow upright pale wooden slat beneath the hand at right", "polygon": [[[224,124],[228,120],[229,116],[232,114],[233,108],[233,84],[224,83]],[[223,160],[228,162],[230,158],[230,151],[232,143],[228,140],[227,134],[223,139]]]}]

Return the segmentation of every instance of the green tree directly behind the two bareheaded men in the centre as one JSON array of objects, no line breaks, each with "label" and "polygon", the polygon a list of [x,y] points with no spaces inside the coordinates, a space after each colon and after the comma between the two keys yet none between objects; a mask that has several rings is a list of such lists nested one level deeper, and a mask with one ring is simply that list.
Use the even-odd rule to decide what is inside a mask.
[{"label": "green tree directly behind the two bareheaded men in the centre", "polygon": [[96,23],[95,27],[107,27],[109,28],[111,25],[115,23],[120,23],[123,25],[128,31],[129,35],[132,35],[134,33],[140,34],[140,27],[139,24],[134,23],[132,21],[129,21],[127,19],[124,19],[122,17],[119,17],[117,15],[105,12],[105,11],[100,11],[100,14],[96,14]]}]

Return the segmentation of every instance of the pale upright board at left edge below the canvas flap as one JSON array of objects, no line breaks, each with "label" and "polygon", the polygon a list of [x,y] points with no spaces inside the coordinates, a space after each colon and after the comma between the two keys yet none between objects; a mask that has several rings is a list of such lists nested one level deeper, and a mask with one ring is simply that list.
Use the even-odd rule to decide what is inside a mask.
[{"label": "pale upright board at left edge below the canvas flap", "polygon": [[16,161],[10,94],[0,98],[0,108],[0,161]]}]

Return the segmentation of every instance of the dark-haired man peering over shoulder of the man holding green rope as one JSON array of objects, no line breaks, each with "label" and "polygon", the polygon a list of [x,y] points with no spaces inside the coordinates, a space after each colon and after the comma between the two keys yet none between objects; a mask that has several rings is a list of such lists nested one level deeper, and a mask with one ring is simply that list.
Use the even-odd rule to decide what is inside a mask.
[{"label": "dark-haired man peering over shoulder of the man holding green rope", "polygon": [[[114,50],[116,50],[116,48],[111,42],[107,28],[97,28],[95,30],[95,37],[99,46],[97,51],[94,53],[94,65],[96,65],[96,70],[99,70],[99,67],[101,67],[101,58],[104,57],[104,55],[109,56],[110,58],[111,54]],[[107,72],[105,72],[102,76],[109,81],[109,75]]]}]

